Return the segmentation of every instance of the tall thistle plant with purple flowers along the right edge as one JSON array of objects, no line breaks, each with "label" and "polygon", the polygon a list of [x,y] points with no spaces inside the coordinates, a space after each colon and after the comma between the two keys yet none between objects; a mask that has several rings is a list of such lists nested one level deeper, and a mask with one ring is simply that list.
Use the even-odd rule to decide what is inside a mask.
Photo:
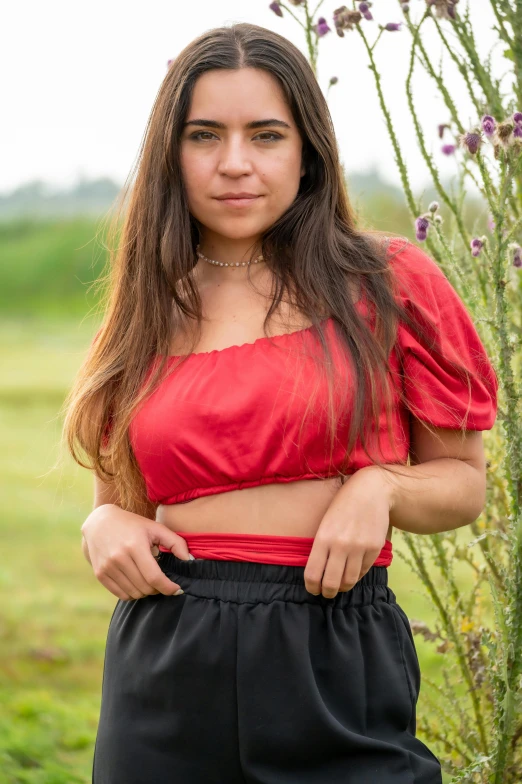
[{"label": "tall thistle plant with purple flowers along the right edge", "polygon": [[[329,12],[325,0],[313,10],[309,0],[276,0],[269,6],[301,26],[315,73],[322,38],[360,38],[412,234],[460,294],[497,369],[498,418],[485,434],[487,503],[467,529],[470,541],[463,544],[457,531],[422,537],[400,532],[406,551],[398,557],[420,579],[437,618],[434,628],[411,619],[412,631],[442,654],[441,683],[423,674],[428,710],[418,716],[417,728],[438,752],[452,784],[522,781],[522,0],[484,0],[484,6],[487,2],[495,20],[495,46],[501,44],[506,64],[502,79],[494,76],[491,52],[477,48],[473,2],[464,7],[459,0],[375,0]],[[476,18],[479,9],[473,11]],[[428,29],[439,44],[435,55],[425,43]],[[377,63],[379,40],[387,35],[409,46],[408,107],[437,194],[424,209],[422,198],[413,194],[393,125],[395,96],[384,94]],[[441,52],[456,73],[451,82],[435,65]],[[412,88],[416,68],[422,68],[445,106],[433,127],[419,119]],[[501,82],[508,77],[504,88]],[[457,79],[469,96],[471,120],[452,93]],[[331,77],[328,91],[332,87],[343,89],[342,74]],[[433,141],[436,153],[428,149]],[[455,161],[455,189],[440,175],[447,157]],[[481,207],[474,220],[465,211],[470,183]],[[465,591],[459,584],[463,570]]]}]

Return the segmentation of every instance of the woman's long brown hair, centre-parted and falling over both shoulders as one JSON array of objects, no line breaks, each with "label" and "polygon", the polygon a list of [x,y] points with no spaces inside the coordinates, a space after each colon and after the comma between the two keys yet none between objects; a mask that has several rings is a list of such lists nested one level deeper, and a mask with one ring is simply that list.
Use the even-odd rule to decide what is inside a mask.
[{"label": "woman's long brown hair, centre-parted and falling over both shoulders", "polygon": [[[328,106],[304,55],[283,36],[253,24],[203,33],[171,62],[160,86],[131,173],[135,177],[127,179],[109,228],[109,270],[98,281],[104,288],[103,324],[64,402],[63,434],[76,462],[105,482],[115,482],[123,508],[152,519],[157,505],[147,498],[128,428],[136,408],[163,377],[176,324],[183,315],[197,323],[202,318],[201,299],[189,275],[197,261],[200,230],[182,182],[182,127],[199,76],[245,67],[263,69],[279,81],[302,135],[306,174],[294,202],[261,240],[274,280],[264,329],[266,333],[284,295],[315,327],[328,368],[331,449],[340,414],[332,405],[335,379],[321,319],[333,319],[353,371],[346,461],[358,437],[369,455],[383,398],[393,441],[388,357],[398,319],[428,346],[433,343],[395,297],[388,249],[388,239],[395,235],[356,225]],[[121,238],[113,247],[120,227]],[[371,323],[361,318],[348,294],[354,284],[368,303]],[[146,379],[158,356],[155,373]],[[466,368],[455,368],[468,377]],[[399,395],[407,405],[400,390]],[[108,424],[111,437],[104,447]],[[90,463],[84,462],[81,449]],[[378,457],[371,459],[383,465]]]}]

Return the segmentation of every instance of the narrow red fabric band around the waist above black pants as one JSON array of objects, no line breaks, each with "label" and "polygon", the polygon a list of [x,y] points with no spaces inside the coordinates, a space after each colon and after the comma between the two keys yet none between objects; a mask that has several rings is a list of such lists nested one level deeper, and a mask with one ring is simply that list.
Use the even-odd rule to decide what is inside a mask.
[{"label": "narrow red fabric band around the waist above black pants", "polygon": [[[285,566],[306,566],[314,543],[309,536],[267,536],[265,534],[189,533],[176,531],[187,542],[194,558],[216,561],[254,561]],[[159,546],[163,553],[171,552]],[[390,566],[393,560],[391,540],[386,539],[374,566]]]}]

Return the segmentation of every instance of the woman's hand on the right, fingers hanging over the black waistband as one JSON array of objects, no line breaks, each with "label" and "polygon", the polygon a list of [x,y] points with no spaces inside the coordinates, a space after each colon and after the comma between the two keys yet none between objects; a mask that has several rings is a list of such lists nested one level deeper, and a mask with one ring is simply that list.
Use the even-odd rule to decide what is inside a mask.
[{"label": "woman's hand on the right, fingers hanging over the black waistband", "polygon": [[392,486],[381,470],[352,474],[321,520],[304,571],[309,593],[333,599],[350,591],[375,563],[386,541]]}]

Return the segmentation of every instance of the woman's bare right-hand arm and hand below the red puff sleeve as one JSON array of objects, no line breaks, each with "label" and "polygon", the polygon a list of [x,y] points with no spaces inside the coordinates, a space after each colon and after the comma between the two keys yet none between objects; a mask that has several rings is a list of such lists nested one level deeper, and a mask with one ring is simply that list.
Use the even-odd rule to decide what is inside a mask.
[{"label": "woman's bare right-hand arm and hand below the red puff sleeve", "polygon": [[365,466],[337,491],[305,567],[310,593],[331,599],[351,590],[375,563],[390,523],[433,534],[469,525],[480,515],[486,496],[481,431],[462,436],[436,428],[432,435],[416,423],[411,451],[413,465]]}]

